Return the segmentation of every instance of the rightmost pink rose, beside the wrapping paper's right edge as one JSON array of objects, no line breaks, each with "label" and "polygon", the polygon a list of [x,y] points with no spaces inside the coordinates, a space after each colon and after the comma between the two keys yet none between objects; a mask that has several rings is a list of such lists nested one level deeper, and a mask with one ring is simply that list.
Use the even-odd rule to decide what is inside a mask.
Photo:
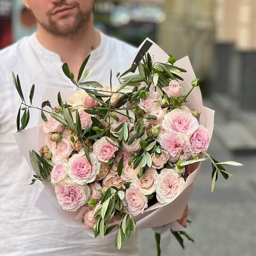
[{"label": "rightmost pink rose, beside the wrapping paper's right edge", "polygon": [[206,151],[210,139],[209,131],[203,125],[199,125],[189,138],[193,155]]}]

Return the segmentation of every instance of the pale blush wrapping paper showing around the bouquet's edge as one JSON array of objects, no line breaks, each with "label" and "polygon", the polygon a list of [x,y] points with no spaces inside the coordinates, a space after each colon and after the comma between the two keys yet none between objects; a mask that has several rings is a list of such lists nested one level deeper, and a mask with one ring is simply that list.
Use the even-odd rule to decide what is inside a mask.
[{"label": "pale blush wrapping paper showing around the bouquet's edge", "polygon": [[[153,62],[166,62],[168,55],[154,42],[150,41],[150,39],[145,39],[145,41],[140,45],[135,53],[135,56],[138,55],[138,52],[142,49],[145,44],[150,43],[148,51],[153,57]],[[135,58],[134,56],[134,58]],[[131,61],[133,63],[134,59]],[[182,58],[175,62],[175,65],[186,69],[187,73],[182,73],[182,77],[184,81],[179,81],[182,85],[183,89],[189,89],[191,87],[191,81],[195,78],[195,74],[191,63],[188,57]],[[58,105],[57,102],[57,94],[59,90],[55,88],[46,89],[43,100],[50,100],[52,106]],[[74,90],[60,90],[62,100],[68,100],[75,92]],[[209,130],[210,135],[212,136],[213,131],[213,120],[214,120],[214,111],[203,106],[202,95],[199,87],[196,87],[193,92],[188,97],[189,103],[187,103],[188,107],[196,109],[199,113],[201,113],[200,123],[205,125],[205,127]],[[19,148],[23,156],[26,158],[28,164],[29,161],[29,150],[39,150],[41,146],[45,145],[46,134],[42,130],[42,125],[32,127],[25,131],[19,132],[15,134],[15,140],[18,143]],[[30,165],[31,166],[31,165]],[[188,203],[188,198],[194,188],[196,178],[199,174],[201,165],[189,175],[186,180],[185,186],[182,189],[181,194],[170,204],[160,204],[156,203],[153,206],[150,206],[143,214],[135,217],[137,221],[137,228],[154,228],[163,225],[167,226],[170,230],[170,227],[176,226],[175,220],[181,218],[181,215]],[[31,167],[32,168],[32,167]],[[93,232],[89,228],[85,228],[81,221],[81,216],[84,209],[80,209],[76,212],[68,212],[61,209],[60,205],[57,202],[53,186],[50,182],[43,182],[44,189],[39,195],[35,206],[48,215],[53,220],[56,220],[63,225],[70,227],[82,227],[87,230],[87,232],[93,236]],[[171,223],[171,224],[170,224]],[[167,229],[168,229],[167,228]],[[166,230],[166,226],[165,226]],[[166,235],[167,236],[167,235]]]}]

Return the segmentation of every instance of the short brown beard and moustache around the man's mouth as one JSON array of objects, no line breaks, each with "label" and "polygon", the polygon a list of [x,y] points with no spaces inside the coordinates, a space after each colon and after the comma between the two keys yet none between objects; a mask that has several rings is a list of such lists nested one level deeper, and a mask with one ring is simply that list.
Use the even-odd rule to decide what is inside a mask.
[{"label": "short brown beard and moustache around the man's mouth", "polygon": [[79,30],[81,30],[89,21],[94,8],[94,4],[93,4],[90,7],[90,9],[86,10],[86,12],[82,12],[78,3],[74,3],[73,5],[60,3],[60,5],[56,7],[62,7],[62,6],[70,6],[70,7],[77,8],[78,11],[75,15],[75,19],[73,22],[65,23],[64,25],[58,25],[58,22],[52,19],[52,12],[47,13],[47,16],[49,17],[49,22],[47,24],[44,22],[38,21],[38,23],[45,30],[49,31],[52,35],[62,36],[62,37],[70,37],[77,34]]}]

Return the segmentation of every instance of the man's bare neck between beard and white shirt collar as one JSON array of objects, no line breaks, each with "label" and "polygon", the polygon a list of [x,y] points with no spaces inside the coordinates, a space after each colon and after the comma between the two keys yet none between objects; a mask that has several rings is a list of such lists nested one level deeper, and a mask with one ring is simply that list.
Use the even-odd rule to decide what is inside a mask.
[{"label": "man's bare neck between beard and white shirt collar", "polygon": [[59,54],[61,60],[68,63],[75,77],[83,60],[100,44],[100,33],[92,22],[70,37],[55,36],[38,25],[36,37],[46,49]]}]

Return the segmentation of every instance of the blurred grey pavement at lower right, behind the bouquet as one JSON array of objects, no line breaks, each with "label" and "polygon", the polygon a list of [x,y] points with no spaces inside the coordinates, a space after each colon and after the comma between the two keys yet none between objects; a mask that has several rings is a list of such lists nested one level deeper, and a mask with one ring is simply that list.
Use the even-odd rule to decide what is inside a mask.
[{"label": "blurred grey pavement at lower right, behind the bouquet", "polygon": [[[213,136],[209,153],[219,161],[232,159],[243,167],[229,166],[233,177],[219,177],[213,194],[210,163],[204,163],[190,197],[187,233],[195,243],[186,240],[182,250],[173,237],[162,256],[253,256],[256,255],[256,155],[231,156]],[[155,256],[154,232],[139,231],[140,255]]]}]

